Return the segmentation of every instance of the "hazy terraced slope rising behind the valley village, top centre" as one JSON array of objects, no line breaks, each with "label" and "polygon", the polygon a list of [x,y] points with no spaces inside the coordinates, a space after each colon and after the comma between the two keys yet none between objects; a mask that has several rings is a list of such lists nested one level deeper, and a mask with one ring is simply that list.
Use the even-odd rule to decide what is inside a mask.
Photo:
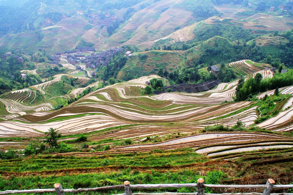
[{"label": "hazy terraced slope rising behind the valley village, top centre", "polygon": [[[112,35],[103,49],[113,48],[118,43],[150,48],[153,41],[173,33],[176,26],[185,26],[192,20],[191,11],[179,5],[182,0],[162,0],[136,13]],[[168,8],[162,11],[164,8]]]}]

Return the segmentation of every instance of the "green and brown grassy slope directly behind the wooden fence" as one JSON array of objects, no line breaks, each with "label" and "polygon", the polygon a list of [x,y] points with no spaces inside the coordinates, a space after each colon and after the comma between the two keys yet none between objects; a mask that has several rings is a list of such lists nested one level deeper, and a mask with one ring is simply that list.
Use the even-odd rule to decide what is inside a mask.
[{"label": "green and brown grassy slope directly behind the wooden fence", "polygon": [[[236,160],[210,160],[190,148],[87,158],[40,155],[25,160],[1,160],[0,190],[52,188],[58,182],[64,189],[122,184],[125,180],[132,184],[194,183],[200,177],[206,178],[206,183],[265,184],[267,178],[272,178],[278,184],[288,184],[293,179],[292,149],[265,152],[267,154],[245,153]],[[214,177],[218,174],[208,173],[212,170],[222,171],[224,177],[217,181]],[[181,190],[172,188],[148,192],[193,192],[194,189]],[[132,191],[139,192],[138,189]],[[223,193],[220,189],[214,192]],[[100,193],[118,194],[123,191]]]}]

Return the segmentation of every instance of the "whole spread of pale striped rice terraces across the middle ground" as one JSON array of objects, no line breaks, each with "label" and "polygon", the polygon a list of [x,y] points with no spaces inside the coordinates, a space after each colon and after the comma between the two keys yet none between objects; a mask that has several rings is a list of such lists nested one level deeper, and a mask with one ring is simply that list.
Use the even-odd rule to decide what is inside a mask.
[{"label": "whole spread of pale striped rice terraces across the middle ground", "polygon": [[[211,40],[212,41],[212,40]],[[207,43],[206,43],[207,44]],[[210,43],[212,44],[212,43]],[[149,61],[158,56],[148,54]],[[160,54],[160,52],[158,52]],[[161,52],[162,53],[162,52]],[[164,55],[180,56],[180,51],[165,52]],[[135,56],[134,56],[135,57]],[[160,56],[163,59],[163,55]],[[168,56],[171,57],[171,56]],[[175,58],[174,58],[175,59]],[[178,61],[180,61],[178,57]],[[154,62],[155,63],[155,62]],[[174,60],[174,64],[176,64]],[[265,67],[250,60],[232,62],[230,67],[243,76],[254,76],[260,72],[264,78],[272,74]],[[206,126],[234,126],[239,120],[246,126],[256,126],[258,102],[233,102],[238,81],[220,83],[214,89],[201,93],[163,93],[160,95],[141,95],[145,82],[152,78],[163,79],[156,75],[144,76],[124,83],[116,83],[93,91],[76,102],[53,110],[54,101],[49,99],[39,105],[28,105],[35,90],[46,93],[46,87],[58,82],[62,75],[52,81],[35,85],[29,89],[13,91],[0,99],[0,137],[40,137],[50,128],[56,128],[63,135],[88,133],[93,141],[130,138],[136,145],[111,148],[104,153],[127,153],[131,151],[151,151],[157,149],[194,148],[197,153],[204,153],[209,158],[234,158],[241,153],[253,150],[286,150],[293,146],[289,136],[268,134],[265,132],[201,132]],[[78,78],[84,84],[88,78]],[[165,80],[163,79],[164,83]],[[92,83],[87,86],[98,86]],[[76,97],[86,88],[78,88],[62,98]],[[268,91],[258,95],[263,98]],[[281,94],[293,94],[293,87],[280,88]],[[270,131],[293,130],[293,98],[287,98],[278,106],[280,113],[260,124]],[[166,136],[180,133],[188,136],[160,143],[142,144],[147,136]],[[216,138],[216,139],[215,139]],[[17,144],[17,143],[16,143]],[[277,149],[281,148],[281,149]],[[67,154],[65,154],[67,155]],[[68,153],[71,155],[71,153]],[[87,155],[76,153],[76,155]]]}]

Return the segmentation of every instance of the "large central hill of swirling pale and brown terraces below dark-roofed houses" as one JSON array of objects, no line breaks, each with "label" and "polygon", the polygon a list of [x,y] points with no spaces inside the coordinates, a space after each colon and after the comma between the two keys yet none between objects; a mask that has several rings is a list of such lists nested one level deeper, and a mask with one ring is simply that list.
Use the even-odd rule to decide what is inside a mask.
[{"label": "large central hill of swirling pale and brown terraces below dark-roofed houses", "polygon": [[[266,72],[262,70],[258,72],[266,76]],[[252,73],[254,72],[252,71]],[[115,138],[127,138],[135,137],[135,132],[138,132],[139,136],[146,136],[142,133],[142,129],[145,129],[147,134],[152,132],[152,129],[156,129],[154,134],[166,134],[175,129],[176,131],[181,130],[181,132],[186,131],[183,130],[186,129],[184,124],[188,124],[192,130],[214,124],[231,126],[238,120],[246,125],[251,125],[258,118],[255,111],[258,107],[255,105],[256,102],[231,102],[219,105],[233,100],[232,96],[235,93],[237,81],[222,83],[216,89],[202,93],[164,93],[152,97],[141,96],[141,88],[144,88],[145,82],[152,77],[157,76],[117,83],[92,92],[58,111],[25,114],[14,118],[13,121],[4,121],[1,126],[27,131],[33,131],[33,129],[46,131],[50,126],[57,128],[63,134],[102,131],[123,125],[133,126],[132,130],[129,130],[124,136],[113,134]],[[43,85],[45,86],[46,83]],[[40,90],[44,89],[43,85],[39,87]],[[291,94],[291,91],[287,90],[284,93]],[[88,123],[84,124],[82,122],[84,120],[87,120]],[[168,125],[173,122],[176,122],[174,125],[176,128],[173,125],[170,128]],[[39,123],[43,125],[39,126]],[[166,125],[164,125],[165,123]],[[101,136],[105,132],[99,134]],[[108,133],[105,136],[113,137]]]}]

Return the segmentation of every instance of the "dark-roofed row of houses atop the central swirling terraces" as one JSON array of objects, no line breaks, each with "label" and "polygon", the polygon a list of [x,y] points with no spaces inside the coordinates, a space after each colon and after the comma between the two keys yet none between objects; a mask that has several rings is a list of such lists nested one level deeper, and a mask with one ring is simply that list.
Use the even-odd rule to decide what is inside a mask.
[{"label": "dark-roofed row of houses atop the central swirling terraces", "polygon": [[[186,92],[186,93],[197,93],[201,91],[207,91],[212,89],[213,87],[217,86],[220,83],[219,80],[213,80],[213,81],[206,81],[199,84],[186,84],[186,83],[180,83],[180,84],[174,84],[167,87],[163,87],[162,91],[154,91],[153,94],[158,95],[161,93],[166,93],[167,89],[171,89],[174,92]],[[149,81],[146,82],[147,85],[149,85]]]}]

